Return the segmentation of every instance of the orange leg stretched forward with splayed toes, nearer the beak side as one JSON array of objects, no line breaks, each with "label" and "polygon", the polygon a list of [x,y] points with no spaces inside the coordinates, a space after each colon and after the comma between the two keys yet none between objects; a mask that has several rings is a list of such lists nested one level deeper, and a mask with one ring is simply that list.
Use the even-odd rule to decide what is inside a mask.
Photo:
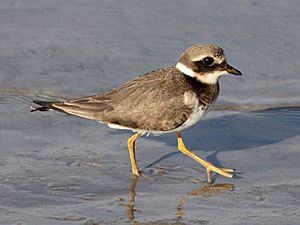
[{"label": "orange leg stretched forward with splayed toes, nearer the beak side", "polygon": [[177,141],[178,141],[178,149],[185,155],[191,157],[192,159],[196,160],[198,163],[200,163],[207,172],[207,182],[208,183],[212,183],[212,177],[211,174],[212,172],[216,172],[218,174],[221,174],[225,177],[233,177],[233,174],[230,174],[230,172],[233,172],[234,169],[226,169],[226,168],[218,168],[214,165],[212,165],[211,163],[201,159],[200,157],[198,157],[197,155],[195,155],[193,152],[191,152],[190,150],[188,150],[182,140],[182,136],[180,132],[177,132]]}]

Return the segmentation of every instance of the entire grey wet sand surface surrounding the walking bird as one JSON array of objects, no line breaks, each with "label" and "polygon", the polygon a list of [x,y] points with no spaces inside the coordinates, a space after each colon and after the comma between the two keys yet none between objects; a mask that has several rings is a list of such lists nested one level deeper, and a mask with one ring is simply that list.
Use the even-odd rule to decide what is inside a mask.
[{"label": "entire grey wet sand surface surrounding the walking bird", "polygon": [[[174,13],[175,12],[175,13]],[[0,2],[0,224],[289,224],[300,221],[299,3]],[[222,46],[244,76],[183,132],[137,142],[94,121],[30,113],[32,100],[106,91],[173,65],[195,42]],[[272,108],[268,110],[268,108]]]}]

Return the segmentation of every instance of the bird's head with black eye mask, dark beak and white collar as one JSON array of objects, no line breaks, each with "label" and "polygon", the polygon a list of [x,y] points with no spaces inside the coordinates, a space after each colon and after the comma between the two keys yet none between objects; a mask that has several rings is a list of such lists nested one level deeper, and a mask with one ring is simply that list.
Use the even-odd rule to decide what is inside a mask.
[{"label": "bird's head with black eye mask, dark beak and white collar", "polygon": [[242,75],[227,63],[223,49],[212,44],[192,45],[181,54],[176,68],[208,84],[217,83],[221,75]]}]

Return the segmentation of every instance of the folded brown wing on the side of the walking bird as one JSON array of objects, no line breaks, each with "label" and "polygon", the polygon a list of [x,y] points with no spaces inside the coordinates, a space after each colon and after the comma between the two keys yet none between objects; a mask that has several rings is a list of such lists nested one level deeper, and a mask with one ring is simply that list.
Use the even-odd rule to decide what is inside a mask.
[{"label": "folded brown wing on the side of the walking bird", "polygon": [[174,67],[153,71],[95,96],[53,107],[68,114],[132,129],[166,131],[183,124],[191,109],[183,104],[186,83]]}]

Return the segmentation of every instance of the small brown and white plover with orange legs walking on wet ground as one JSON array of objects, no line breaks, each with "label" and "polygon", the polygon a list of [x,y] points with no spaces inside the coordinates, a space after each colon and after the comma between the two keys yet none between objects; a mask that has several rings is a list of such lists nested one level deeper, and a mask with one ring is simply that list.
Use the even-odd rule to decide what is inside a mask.
[{"label": "small brown and white plover with orange legs walking on wet ground", "polygon": [[66,101],[34,100],[32,111],[56,110],[96,120],[114,129],[133,131],[128,138],[131,170],[140,176],[135,143],[143,134],[176,133],[178,149],[200,163],[212,183],[212,174],[234,177],[235,169],[219,168],[190,151],[181,131],[196,124],[209,111],[219,95],[219,78],[226,74],[242,75],[229,65],[224,50],[214,44],[188,47],[173,66],[137,76],[110,91]]}]

